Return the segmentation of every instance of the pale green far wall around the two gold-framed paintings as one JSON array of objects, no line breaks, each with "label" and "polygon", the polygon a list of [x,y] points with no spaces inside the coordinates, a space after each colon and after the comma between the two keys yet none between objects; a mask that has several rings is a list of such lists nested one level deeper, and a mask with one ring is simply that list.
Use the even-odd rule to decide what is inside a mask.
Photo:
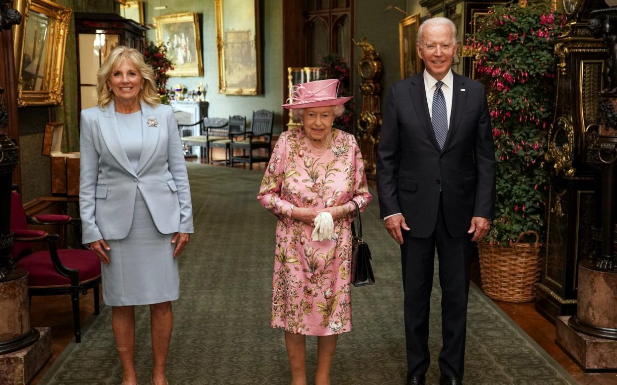
[{"label": "pale green far wall around the two gold-framed paintings", "polygon": [[[249,1],[250,2],[250,1]],[[202,41],[202,59],[204,76],[170,78],[167,85],[184,84],[188,90],[196,89],[199,83],[208,85],[206,99],[210,102],[208,115],[226,118],[230,115],[244,115],[247,121],[252,118],[254,110],[273,110],[275,112],[275,133],[281,130],[281,87],[283,73],[283,0],[262,0],[262,63],[263,94],[255,96],[225,95],[218,93],[218,52],[217,26],[215,21],[214,0],[175,0],[164,1],[165,10],[154,10],[159,1],[146,2],[146,23],[154,23],[152,17],[181,12],[199,14]],[[155,40],[154,30],[147,31],[148,39]]]}]

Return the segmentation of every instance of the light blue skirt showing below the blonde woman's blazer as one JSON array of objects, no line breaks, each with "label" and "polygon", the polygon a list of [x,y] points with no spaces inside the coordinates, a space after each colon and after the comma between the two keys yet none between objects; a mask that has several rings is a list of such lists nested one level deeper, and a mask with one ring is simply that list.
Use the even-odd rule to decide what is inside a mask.
[{"label": "light blue skirt showing below the blonde woman's blazer", "polygon": [[101,263],[103,301],[109,306],[157,304],[180,296],[173,234],[162,234],[137,190],[131,230],[126,238],[107,240],[110,263]]}]

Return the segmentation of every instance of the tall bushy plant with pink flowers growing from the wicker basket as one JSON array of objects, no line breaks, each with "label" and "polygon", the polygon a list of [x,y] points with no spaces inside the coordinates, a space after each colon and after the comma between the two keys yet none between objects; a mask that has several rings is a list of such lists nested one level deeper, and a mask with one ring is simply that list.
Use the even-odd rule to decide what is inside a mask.
[{"label": "tall bushy plant with pink flowers growing from the wicker basket", "polygon": [[527,230],[544,235],[548,172],[540,163],[556,68],[550,40],[563,23],[544,2],[494,6],[468,39],[467,49],[476,52],[476,78],[486,86],[495,142],[491,243],[507,245]]}]

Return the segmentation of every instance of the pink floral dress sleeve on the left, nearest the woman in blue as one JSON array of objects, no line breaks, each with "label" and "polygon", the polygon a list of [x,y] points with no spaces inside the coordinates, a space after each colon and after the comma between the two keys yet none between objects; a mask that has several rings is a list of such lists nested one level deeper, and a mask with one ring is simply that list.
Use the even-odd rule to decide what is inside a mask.
[{"label": "pink floral dress sleeve on the left, nearest the woman in blue", "polygon": [[287,136],[285,133],[281,134],[276,142],[270,163],[268,163],[263,174],[257,200],[263,207],[275,214],[278,219],[289,225],[292,221],[291,213],[295,206],[281,197],[281,189],[286,178],[285,163],[289,150]]}]

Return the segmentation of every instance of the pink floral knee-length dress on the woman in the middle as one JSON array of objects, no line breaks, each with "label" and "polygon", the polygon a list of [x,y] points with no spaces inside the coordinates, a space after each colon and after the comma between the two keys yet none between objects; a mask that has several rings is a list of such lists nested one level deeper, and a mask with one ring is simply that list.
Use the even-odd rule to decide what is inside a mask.
[{"label": "pink floral knee-length dress on the woman in the middle", "polygon": [[[371,195],[354,136],[333,129],[330,149],[317,156],[311,148],[304,128],[283,132],[257,198],[278,217],[272,327],[327,336],[351,329],[351,200],[363,210]],[[333,240],[312,241],[313,226],[291,219],[294,207],[341,205],[349,215],[334,222]]]}]

